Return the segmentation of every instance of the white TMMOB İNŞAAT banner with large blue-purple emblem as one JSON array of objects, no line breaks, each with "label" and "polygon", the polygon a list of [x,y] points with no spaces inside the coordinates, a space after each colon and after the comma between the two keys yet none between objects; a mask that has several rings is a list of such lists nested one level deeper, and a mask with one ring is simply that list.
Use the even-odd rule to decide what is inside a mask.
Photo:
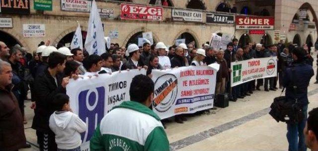
[{"label": "white TMMOB \u0130N\u015eAAT banner with large blue-purple emblem", "polygon": [[70,81],[66,92],[70,96],[71,108],[87,125],[86,132],[81,134],[81,151],[89,151],[89,140],[104,115],[114,106],[130,100],[132,77],[140,74],[146,75],[146,70],[114,72]]}]

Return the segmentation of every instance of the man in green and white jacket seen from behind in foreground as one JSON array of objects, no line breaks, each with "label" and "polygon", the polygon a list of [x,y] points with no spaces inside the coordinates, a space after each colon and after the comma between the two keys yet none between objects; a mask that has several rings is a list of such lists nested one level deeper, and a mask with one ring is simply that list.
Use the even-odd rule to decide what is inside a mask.
[{"label": "man in green and white jacket seen from behind in foreground", "polygon": [[169,142],[158,115],[149,109],[154,82],[136,75],[129,90],[131,101],[115,106],[90,139],[90,151],[169,151]]}]

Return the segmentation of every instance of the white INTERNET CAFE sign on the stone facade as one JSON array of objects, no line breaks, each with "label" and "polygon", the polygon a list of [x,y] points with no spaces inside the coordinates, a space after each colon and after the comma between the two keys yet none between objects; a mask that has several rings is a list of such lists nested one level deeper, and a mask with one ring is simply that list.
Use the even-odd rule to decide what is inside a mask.
[{"label": "white INTERNET CAFE sign on the stone facade", "polygon": [[202,22],[203,13],[200,11],[172,9],[172,21]]}]

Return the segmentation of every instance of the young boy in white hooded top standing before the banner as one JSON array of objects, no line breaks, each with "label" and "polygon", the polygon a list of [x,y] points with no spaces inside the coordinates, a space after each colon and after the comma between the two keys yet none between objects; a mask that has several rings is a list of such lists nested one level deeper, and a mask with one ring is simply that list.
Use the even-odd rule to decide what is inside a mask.
[{"label": "young boy in white hooded top standing before the banner", "polygon": [[86,124],[70,108],[69,96],[57,94],[52,102],[55,112],[50,117],[50,128],[55,133],[58,151],[80,151],[80,134],[85,132]]}]

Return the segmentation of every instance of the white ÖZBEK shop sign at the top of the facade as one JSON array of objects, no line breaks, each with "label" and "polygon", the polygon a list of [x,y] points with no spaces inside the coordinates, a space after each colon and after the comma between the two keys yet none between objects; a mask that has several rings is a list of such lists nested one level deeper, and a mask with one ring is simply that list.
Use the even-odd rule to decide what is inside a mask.
[{"label": "white \u00d6ZBEK shop sign at the top of the facade", "polygon": [[91,1],[89,0],[61,0],[61,10],[89,12]]}]

